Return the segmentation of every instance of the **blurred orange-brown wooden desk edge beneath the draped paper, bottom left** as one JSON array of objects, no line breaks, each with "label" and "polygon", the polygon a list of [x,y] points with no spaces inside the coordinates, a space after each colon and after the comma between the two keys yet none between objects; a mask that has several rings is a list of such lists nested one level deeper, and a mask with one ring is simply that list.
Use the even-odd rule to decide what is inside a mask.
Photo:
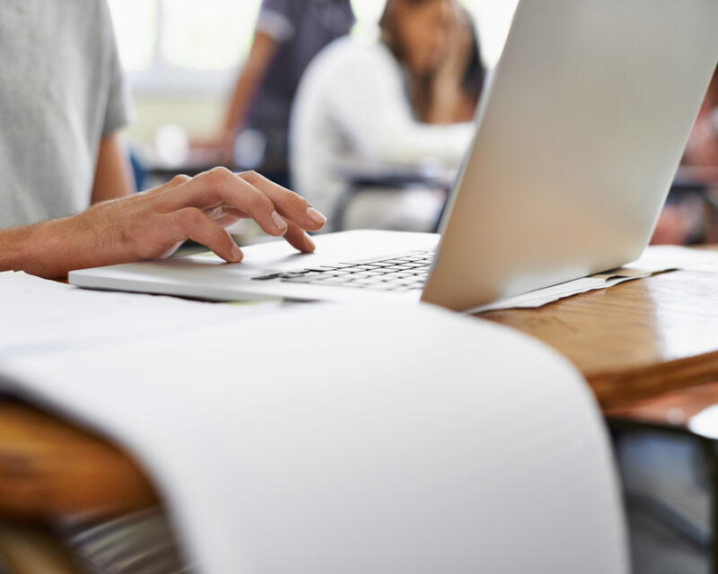
[{"label": "blurred orange-brown wooden desk edge beneath the draped paper, bottom left", "polygon": [[30,406],[0,404],[0,515],[101,518],[155,504],[125,452]]}]

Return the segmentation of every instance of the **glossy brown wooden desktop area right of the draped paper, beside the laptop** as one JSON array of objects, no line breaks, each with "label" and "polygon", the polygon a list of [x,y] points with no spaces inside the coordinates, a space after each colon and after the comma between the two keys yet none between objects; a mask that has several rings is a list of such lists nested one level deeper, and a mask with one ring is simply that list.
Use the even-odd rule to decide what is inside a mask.
[{"label": "glossy brown wooden desktop area right of the draped paper, beside the laptop", "polygon": [[718,381],[718,274],[675,271],[481,317],[563,353],[604,409]]}]

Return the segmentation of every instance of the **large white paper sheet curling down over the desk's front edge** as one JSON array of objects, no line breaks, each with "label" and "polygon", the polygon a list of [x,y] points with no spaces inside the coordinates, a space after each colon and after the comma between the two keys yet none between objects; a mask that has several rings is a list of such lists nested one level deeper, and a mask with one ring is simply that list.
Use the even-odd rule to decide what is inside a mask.
[{"label": "large white paper sheet curling down over the desk's front edge", "polygon": [[589,390],[502,326],[307,306],[5,357],[0,381],[135,453],[201,572],[628,570]]}]

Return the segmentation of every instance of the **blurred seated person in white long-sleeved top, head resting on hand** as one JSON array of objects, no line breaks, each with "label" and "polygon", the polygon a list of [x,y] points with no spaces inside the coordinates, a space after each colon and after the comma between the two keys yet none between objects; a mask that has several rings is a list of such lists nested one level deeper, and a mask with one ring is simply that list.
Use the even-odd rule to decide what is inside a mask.
[{"label": "blurred seated person in white long-sleeved top, head resting on hand", "polygon": [[[335,215],[351,170],[458,168],[485,69],[468,13],[455,0],[389,0],[381,39],[341,39],[307,69],[294,103],[294,186]],[[345,227],[433,230],[445,192],[366,189]]]}]

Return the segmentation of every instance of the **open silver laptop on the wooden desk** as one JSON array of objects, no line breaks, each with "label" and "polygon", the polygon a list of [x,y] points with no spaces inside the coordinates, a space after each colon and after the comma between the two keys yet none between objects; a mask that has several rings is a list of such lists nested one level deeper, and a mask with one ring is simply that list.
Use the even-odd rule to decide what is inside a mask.
[{"label": "open silver laptop on the wooden desk", "polygon": [[357,230],[70,283],[207,300],[424,300],[471,309],[635,260],[718,61],[715,0],[531,0],[514,14],[440,233]]}]

